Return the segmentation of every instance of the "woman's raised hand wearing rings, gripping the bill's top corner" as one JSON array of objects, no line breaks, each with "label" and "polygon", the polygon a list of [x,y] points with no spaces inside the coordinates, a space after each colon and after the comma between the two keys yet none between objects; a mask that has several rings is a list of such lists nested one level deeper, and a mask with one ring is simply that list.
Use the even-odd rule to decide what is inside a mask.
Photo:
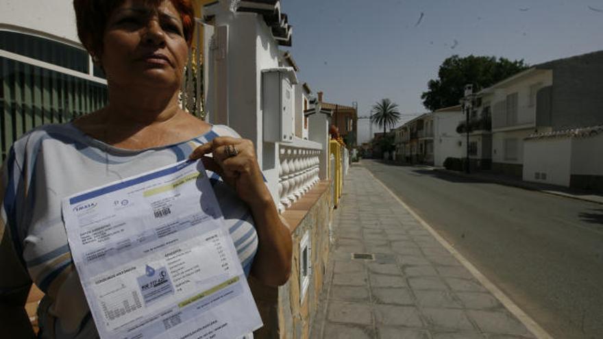
[{"label": "woman's raised hand wearing rings, gripping the bill's top corner", "polygon": [[250,207],[272,199],[251,140],[219,136],[197,147],[189,159],[201,159],[206,169],[218,173]]}]

